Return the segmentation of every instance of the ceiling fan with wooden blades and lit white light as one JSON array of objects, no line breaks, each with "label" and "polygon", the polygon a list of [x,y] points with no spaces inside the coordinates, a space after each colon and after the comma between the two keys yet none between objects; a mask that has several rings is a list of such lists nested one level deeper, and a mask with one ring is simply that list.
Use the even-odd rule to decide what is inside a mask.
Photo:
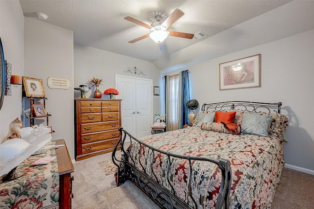
[{"label": "ceiling fan with wooden blades and lit white light", "polygon": [[143,23],[130,16],[125,17],[124,18],[125,20],[141,25],[151,30],[151,33],[138,37],[136,39],[133,39],[129,41],[129,43],[133,44],[147,37],[150,37],[156,43],[159,43],[159,44],[163,42],[168,36],[192,39],[194,37],[194,34],[167,30],[167,28],[170,27],[170,25],[172,25],[174,22],[179,20],[179,18],[181,18],[183,15],[184,15],[183,11],[181,11],[180,9],[175,9],[175,11],[171,13],[171,15],[169,15],[169,17],[163,22],[162,22],[162,17],[160,15],[155,16],[156,22],[152,23],[151,25]]}]

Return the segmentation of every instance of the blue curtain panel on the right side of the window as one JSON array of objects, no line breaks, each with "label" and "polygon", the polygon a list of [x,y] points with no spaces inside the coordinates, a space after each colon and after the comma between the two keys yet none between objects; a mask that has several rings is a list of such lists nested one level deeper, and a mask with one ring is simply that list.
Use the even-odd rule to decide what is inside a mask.
[{"label": "blue curtain panel on the right side of the window", "polygon": [[186,103],[190,100],[190,81],[188,70],[183,70],[181,72],[181,76],[182,76],[181,128],[183,128],[183,125],[188,123],[187,114],[189,109],[186,107]]}]

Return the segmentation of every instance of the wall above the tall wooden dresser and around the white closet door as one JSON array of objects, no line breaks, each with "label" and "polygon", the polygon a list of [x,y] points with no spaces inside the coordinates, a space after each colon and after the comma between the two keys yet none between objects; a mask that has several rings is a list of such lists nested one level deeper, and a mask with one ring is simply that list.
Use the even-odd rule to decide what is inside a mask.
[{"label": "wall above the tall wooden dresser and around the white closet door", "polygon": [[[128,68],[138,68],[145,75],[127,73]],[[140,59],[135,59],[121,54],[104,51],[83,45],[74,45],[74,86],[81,84],[92,86],[89,80],[93,77],[103,78],[104,85],[100,85],[102,93],[108,88],[116,88],[115,75],[127,75],[133,77],[147,78],[153,80],[153,86],[160,86],[160,71],[152,63]],[[93,98],[91,91],[86,93],[86,98]],[[80,97],[80,91],[75,91],[75,98]],[[102,98],[110,98],[109,95],[103,95]],[[160,113],[160,96],[153,96],[153,114]]]}]

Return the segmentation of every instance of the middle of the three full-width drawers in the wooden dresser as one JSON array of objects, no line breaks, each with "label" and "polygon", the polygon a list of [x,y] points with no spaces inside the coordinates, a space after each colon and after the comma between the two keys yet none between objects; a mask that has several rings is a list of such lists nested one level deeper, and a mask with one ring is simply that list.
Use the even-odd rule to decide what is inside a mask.
[{"label": "middle of the three full-width drawers in the wooden dresser", "polygon": [[81,134],[80,140],[81,144],[95,142],[95,141],[101,141],[105,139],[113,139],[120,137],[120,132],[118,129],[116,130],[110,130],[110,131],[103,131],[103,132],[96,132],[96,133],[90,133],[90,134]]}]

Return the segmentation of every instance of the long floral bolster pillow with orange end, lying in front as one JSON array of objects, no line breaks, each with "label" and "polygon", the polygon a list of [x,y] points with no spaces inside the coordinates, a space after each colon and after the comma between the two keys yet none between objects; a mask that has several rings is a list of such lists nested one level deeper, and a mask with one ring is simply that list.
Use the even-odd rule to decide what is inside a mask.
[{"label": "long floral bolster pillow with orange end, lying in front", "polygon": [[216,132],[226,133],[226,134],[239,135],[241,133],[241,126],[236,123],[224,123],[224,122],[202,123],[201,129],[206,130],[206,131],[216,131]]}]

